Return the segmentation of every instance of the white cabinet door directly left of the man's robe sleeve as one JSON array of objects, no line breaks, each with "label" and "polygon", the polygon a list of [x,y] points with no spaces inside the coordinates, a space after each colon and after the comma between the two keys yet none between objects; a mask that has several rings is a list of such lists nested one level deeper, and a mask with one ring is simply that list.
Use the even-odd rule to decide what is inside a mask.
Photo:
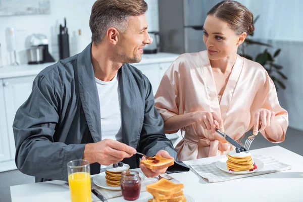
[{"label": "white cabinet door directly left of the man's robe sleeve", "polygon": [[7,134],[11,160],[15,159],[15,139],[13,133],[13,122],[18,108],[25,102],[32,90],[35,76],[3,79],[4,99],[6,106]]}]

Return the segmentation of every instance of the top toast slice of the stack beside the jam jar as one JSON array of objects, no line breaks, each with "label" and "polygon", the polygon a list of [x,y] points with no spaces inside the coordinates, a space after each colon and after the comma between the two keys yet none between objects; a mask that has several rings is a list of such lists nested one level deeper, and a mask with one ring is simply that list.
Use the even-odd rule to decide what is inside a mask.
[{"label": "top toast slice of the stack beside the jam jar", "polygon": [[172,195],[175,192],[180,191],[184,188],[183,184],[176,184],[173,182],[170,182],[169,180],[162,178],[158,182],[155,182],[153,184],[148,184],[146,186],[146,191],[151,193],[151,195],[154,194],[163,194],[163,195]]}]

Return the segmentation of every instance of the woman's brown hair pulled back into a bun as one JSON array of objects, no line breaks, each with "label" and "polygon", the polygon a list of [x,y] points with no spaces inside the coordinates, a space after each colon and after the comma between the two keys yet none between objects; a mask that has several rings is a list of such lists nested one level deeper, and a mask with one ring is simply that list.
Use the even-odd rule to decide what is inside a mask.
[{"label": "woman's brown hair pulled back into a bun", "polygon": [[246,32],[247,35],[255,30],[254,16],[242,4],[235,1],[222,1],[214,6],[207,15],[212,15],[228,23],[237,34]]}]

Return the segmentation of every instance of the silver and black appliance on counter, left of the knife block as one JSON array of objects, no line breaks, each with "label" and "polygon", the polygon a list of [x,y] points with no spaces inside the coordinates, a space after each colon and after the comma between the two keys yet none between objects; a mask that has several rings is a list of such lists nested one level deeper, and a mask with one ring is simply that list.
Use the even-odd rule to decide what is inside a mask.
[{"label": "silver and black appliance on counter, left of the knife block", "polygon": [[29,39],[30,48],[26,50],[28,64],[55,62],[48,52],[48,39],[43,34],[32,34]]}]

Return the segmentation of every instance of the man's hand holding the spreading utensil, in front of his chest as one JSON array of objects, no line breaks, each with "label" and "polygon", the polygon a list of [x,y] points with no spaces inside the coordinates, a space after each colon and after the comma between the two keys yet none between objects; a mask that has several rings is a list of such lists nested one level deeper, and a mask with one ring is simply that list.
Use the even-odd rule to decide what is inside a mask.
[{"label": "man's hand holding the spreading utensil, in front of his chest", "polygon": [[83,159],[109,166],[136,154],[136,149],[119,141],[104,139],[85,145]]}]

